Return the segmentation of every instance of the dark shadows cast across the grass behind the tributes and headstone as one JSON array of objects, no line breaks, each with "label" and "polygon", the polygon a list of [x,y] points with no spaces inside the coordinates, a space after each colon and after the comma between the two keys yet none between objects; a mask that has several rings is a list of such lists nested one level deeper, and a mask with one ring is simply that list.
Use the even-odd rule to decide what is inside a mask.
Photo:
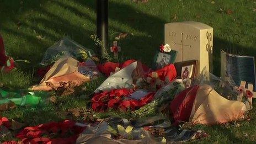
[{"label": "dark shadows cast across the grass behind the tributes and headstone", "polygon": [[[69,20],[63,18],[62,15],[56,14],[51,10],[46,10],[44,8],[45,2],[46,1],[24,1],[23,4],[14,0],[9,2],[0,2],[2,3],[2,6],[7,6],[3,8],[1,12],[7,13],[7,10],[9,9],[12,11],[12,13],[8,15],[8,18],[0,16],[2,21],[1,23],[5,23],[7,20],[19,22],[19,18],[15,13],[19,13],[20,9],[23,9],[23,13],[28,12],[29,10],[34,10],[35,12],[46,15],[47,18],[49,17],[49,19],[35,17],[33,20],[36,24],[29,24],[23,20],[22,26],[25,28],[35,30],[36,33],[46,36],[46,38],[50,39],[51,41],[57,41],[60,40],[63,36],[69,35],[73,40],[79,42],[82,45],[85,45],[86,47],[95,47],[93,44],[94,42],[89,38],[91,34],[95,34],[95,31],[84,29],[81,26],[78,26],[80,24],[72,24],[69,22]],[[68,12],[74,13],[76,15],[76,19],[86,19],[93,25],[96,23],[96,18],[75,6],[66,4],[63,1],[50,2],[56,6],[59,6],[60,10],[68,10]],[[95,13],[95,1],[74,0],[73,2],[81,4],[84,8],[89,8],[93,11],[93,13]],[[153,15],[146,14],[140,9],[136,9],[128,4],[113,1],[109,2],[109,22],[109,29],[114,32],[131,33],[130,31],[122,29],[118,25],[111,24],[113,22],[117,22],[120,24],[125,24],[129,28],[140,31],[144,34],[134,36],[129,35],[126,39],[121,40],[119,43],[122,46],[122,54],[125,54],[130,58],[141,59],[142,62],[146,63],[147,65],[151,65],[153,62],[152,57],[154,56],[154,52],[159,45],[164,43],[164,23],[169,22],[165,22],[165,20]],[[44,26],[50,31],[55,31],[56,34],[52,34],[49,32],[49,30],[40,28],[37,26],[38,24]],[[29,33],[27,34],[22,31],[14,30],[4,26],[2,26],[1,29],[9,34],[21,36],[22,38],[27,39],[31,45],[40,45],[40,53],[44,52],[45,49],[50,46],[49,44],[45,44],[43,40],[39,40],[35,36],[31,36]],[[114,38],[110,36],[110,45],[112,44],[111,40],[113,39]],[[214,73],[217,76],[220,76],[220,49],[226,49],[226,47],[230,47],[230,45],[234,45],[234,47],[237,49],[243,49],[244,54],[256,54],[252,47],[243,47],[239,44],[230,44],[230,41],[214,37]],[[22,58],[28,58],[30,55],[28,54],[28,56],[23,56]],[[39,62],[40,58],[38,58],[38,61],[36,62]]]}]

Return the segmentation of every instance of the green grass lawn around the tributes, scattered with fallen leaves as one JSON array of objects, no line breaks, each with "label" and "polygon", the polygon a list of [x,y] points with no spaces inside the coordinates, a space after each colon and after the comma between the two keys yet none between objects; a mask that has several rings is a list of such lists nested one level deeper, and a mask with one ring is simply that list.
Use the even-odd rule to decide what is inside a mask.
[{"label": "green grass lawn around the tributes, scattered with fallen leaves", "polygon": [[[228,47],[232,52],[256,55],[255,0],[215,3],[209,0],[148,0],[147,3],[109,0],[109,44],[112,44],[115,33],[129,33],[119,42],[122,55],[151,65],[155,50],[164,43],[164,24],[184,20],[202,22],[214,28],[214,74],[217,76],[220,74],[220,49]],[[16,60],[30,61],[29,64],[19,62],[18,69],[11,73],[1,73],[0,83],[9,88],[22,89],[38,83],[40,79],[34,73],[44,52],[64,36],[70,36],[79,44],[95,49],[94,41],[89,38],[95,34],[95,24],[95,0],[0,1],[0,33],[8,55]],[[239,42],[233,39],[234,34],[239,35]],[[58,98],[57,104],[41,104],[36,108],[19,107],[1,115],[28,125],[66,119],[67,109],[88,108],[88,94],[103,80],[85,84],[86,92],[80,89],[70,97]],[[99,116],[106,115],[108,113]],[[120,116],[127,115],[120,113]],[[205,130],[210,137],[195,142],[253,143],[256,141],[254,109],[250,116],[250,121],[238,122],[239,126],[236,122],[230,125],[197,125],[193,129]]]}]

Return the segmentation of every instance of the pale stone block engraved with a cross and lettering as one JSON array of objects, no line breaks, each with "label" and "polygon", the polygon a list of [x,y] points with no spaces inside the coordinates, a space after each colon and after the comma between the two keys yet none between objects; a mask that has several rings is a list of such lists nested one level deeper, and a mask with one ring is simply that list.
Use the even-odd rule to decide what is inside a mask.
[{"label": "pale stone block engraved with a cross and lettering", "polygon": [[198,60],[198,74],[204,67],[212,72],[213,28],[199,22],[164,25],[164,43],[178,51],[175,62]]}]

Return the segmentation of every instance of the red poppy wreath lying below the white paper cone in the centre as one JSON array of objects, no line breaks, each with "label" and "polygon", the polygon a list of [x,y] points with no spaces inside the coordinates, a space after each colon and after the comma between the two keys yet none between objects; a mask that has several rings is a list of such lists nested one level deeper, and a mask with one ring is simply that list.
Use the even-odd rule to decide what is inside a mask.
[{"label": "red poppy wreath lying below the white paper cone in the centre", "polygon": [[148,93],[140,100],[131,99],[128,96],[134,92],[133,89],[113,89],[110,92],[94,94],[92,98],[92,108],[95,111],[104,111],[106,109],[120,109],[122,111],[136,110],[141,106],[150,103],[154,93]]}]

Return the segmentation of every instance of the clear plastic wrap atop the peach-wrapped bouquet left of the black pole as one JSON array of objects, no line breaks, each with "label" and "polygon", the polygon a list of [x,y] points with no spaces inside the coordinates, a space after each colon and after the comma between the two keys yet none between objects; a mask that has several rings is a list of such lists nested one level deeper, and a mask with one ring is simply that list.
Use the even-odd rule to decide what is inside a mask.
[{"label": "clear plastic wrap atop the peach-wrapped bouquet left of the black pole", "polygon": [[86,61],[94,56],[94,52],[65,37],[46,50],[40,65],[52,65],[63,56],[70,56],[78,61]]}]

